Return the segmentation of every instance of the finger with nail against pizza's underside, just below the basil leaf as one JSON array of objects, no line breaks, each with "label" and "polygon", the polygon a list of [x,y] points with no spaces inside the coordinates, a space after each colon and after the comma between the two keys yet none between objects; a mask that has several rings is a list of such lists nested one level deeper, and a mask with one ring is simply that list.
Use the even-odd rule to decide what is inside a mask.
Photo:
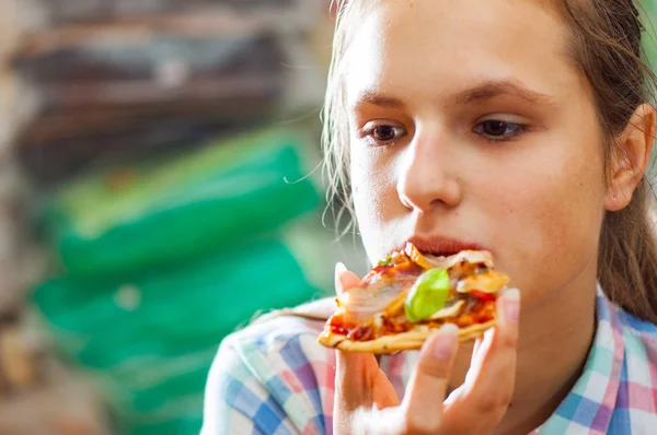
[{"label": "finger with nail against pizza's underside, just below the basil leaf", "polygon": [[436,433],[440,427],[458,346],[459,328],[451,324],[443,325],[423,345],[402,405],[408,432]]}]

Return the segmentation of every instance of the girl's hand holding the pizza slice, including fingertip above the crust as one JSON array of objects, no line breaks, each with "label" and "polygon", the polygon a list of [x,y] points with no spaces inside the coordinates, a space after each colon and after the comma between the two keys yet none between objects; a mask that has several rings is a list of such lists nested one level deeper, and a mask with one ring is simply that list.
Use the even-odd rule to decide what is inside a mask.
[{"label": "girl's hand holding the pizza slice, including fingertip above the crust", "polygon": [[[358,285],[356,274],[336,268],[338,294]],[[423,345],[400,401],[372,354],[336,351],[333,433],[336,435],[488,434],[511,401],[520,294],[497,301],[498,325],[475,343],[465,383],[446,400],[459,346],[458,328],[446,325]]]}]

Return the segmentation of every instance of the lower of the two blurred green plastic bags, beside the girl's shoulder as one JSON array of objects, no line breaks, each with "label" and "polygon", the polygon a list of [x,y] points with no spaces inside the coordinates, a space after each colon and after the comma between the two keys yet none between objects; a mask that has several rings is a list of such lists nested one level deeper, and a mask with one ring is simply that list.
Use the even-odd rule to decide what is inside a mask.
[{"label": "lower of the two blurred green plastic bags, beside the girl's shoulder", "polygon": [[62,356],[95,378],[122,433],[197,434],[222,338],[262,309],[322,295],[276,238],[123,278],[64,277],[34,304]]}]

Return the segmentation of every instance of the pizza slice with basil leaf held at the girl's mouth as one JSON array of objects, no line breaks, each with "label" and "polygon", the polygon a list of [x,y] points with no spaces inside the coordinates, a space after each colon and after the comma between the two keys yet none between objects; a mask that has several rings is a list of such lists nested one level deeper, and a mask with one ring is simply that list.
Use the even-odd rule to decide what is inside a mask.
[{"label": "pizza slice with basil leaf held at the girl's mouth", "polygon": [[495,326],[495,301],[508,282],[491,252],[436,257],[408,243],[336,299],[318,341],[347,352],[417,350],[448,322],[461,341],[474,340]]}]

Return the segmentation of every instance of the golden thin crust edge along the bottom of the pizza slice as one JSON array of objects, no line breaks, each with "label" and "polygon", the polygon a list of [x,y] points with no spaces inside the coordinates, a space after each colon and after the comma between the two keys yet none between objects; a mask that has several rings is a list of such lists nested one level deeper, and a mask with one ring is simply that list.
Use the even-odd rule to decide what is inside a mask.
[{"label": "golden thin crust edge along the bottom of the pizza slice", "polygon": [[[459,341],[463,343],[476,340],[495,325],[497,325],[497,321],[491,320],[485,324],[461,328],[459,330]],[[323,332],[318,341],[325,346],[335,348],[344,352],[394,353],[419,350],[424,342],[436,333],[436,330],[437,328],[429,328],[426,325],[422,325],[407,332],[383,336],[368,341],[354,341],[347,339],[346,336]]]}]

